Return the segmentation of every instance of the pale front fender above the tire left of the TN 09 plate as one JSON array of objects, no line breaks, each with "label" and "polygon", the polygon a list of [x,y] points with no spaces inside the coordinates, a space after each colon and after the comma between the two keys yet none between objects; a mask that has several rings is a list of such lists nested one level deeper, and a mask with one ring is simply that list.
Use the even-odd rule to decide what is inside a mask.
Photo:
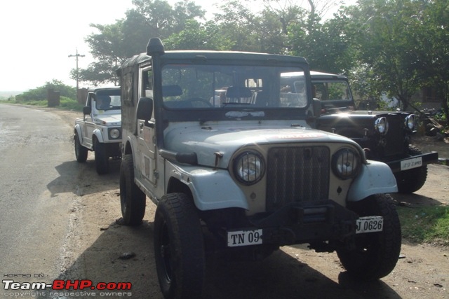
[{"label": "pale front fender above the tire left of the TN 09 plate", "polygon": [[195,205],[201,211],[231,207],[249,209],[245,194],[232,180],[227,170],[174,167],[170,171],[170,176],[189,187]]}]

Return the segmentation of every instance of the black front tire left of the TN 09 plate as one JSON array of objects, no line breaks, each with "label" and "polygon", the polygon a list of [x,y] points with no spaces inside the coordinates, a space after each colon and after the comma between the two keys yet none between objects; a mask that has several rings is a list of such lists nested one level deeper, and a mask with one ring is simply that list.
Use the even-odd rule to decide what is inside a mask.
[{"label": "black front tire left of the TN 09 plate", "polygon": [[154,216],[154,258],[166,299],[201,298],[206,275],[203,232],[184,193],[161,197]]}]

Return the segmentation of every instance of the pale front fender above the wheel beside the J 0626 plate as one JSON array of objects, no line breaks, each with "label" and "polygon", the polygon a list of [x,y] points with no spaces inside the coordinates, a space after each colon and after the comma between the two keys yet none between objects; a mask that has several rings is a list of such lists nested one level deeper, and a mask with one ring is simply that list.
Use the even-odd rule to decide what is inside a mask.
[{"label": "pale front fender above the wheel beside the J 0626 plate", "polygon": [[396,193],[398,186],[390,167],[378,161],[368,160],[349,188],[347,200],[357,202],[370,195]]}]

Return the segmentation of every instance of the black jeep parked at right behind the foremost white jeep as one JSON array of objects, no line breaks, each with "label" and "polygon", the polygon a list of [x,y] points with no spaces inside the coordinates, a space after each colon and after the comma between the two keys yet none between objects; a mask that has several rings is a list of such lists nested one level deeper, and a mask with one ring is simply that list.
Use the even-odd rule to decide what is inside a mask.
[{"label": "black jeep parked at right behind the foremost white jeep", "polygon": [[417,129],[413,113],[356,109],[345,76],[311,71],[311,81],[314,98],[321,103],[319,130],[349,137],[360,144],[366,158],[387,163],[399,193],[413,193],[424,185],[427,164],[438,162],[438,153],[422,153],[411,144]]}]

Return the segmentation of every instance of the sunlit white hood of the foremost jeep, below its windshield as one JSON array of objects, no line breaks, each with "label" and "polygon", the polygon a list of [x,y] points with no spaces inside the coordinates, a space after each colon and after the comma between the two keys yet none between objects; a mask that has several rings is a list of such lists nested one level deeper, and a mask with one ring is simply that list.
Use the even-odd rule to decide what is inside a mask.
[{"label": "sunlit white hood of the foremost jeep, below its windshield", "polygon": [[215,154],[221,153],[220,168],[227,168],[235,151],[243,146],[294,144],[304,142],[341,142],[356,145],[347,137],[305,127],[175,127],[165,134],[165,146],[177,153],[195,152],[199,165],[215,167]]}]

